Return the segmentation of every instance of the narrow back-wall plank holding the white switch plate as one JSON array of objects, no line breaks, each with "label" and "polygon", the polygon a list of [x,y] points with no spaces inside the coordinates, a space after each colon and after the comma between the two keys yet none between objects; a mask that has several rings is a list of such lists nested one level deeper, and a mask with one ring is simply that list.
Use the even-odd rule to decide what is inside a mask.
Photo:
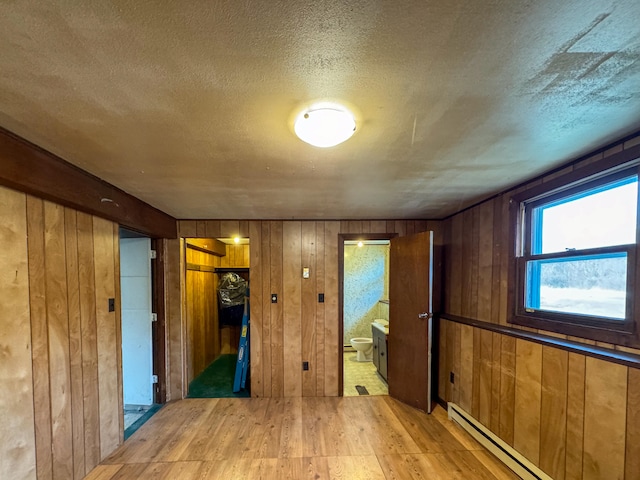
[{"label": "narrow back-wall plank holding the white switch plate", "polygon": [[[302,372],[302,395],[316,396],[317,337],[316,337],[316,222],[302,222],[301,230],[302,268],[309,268],[309,278],[302,279],[302,361],[309,362],[309,370]],[[299,272],[299,275],[301,272]]]}]

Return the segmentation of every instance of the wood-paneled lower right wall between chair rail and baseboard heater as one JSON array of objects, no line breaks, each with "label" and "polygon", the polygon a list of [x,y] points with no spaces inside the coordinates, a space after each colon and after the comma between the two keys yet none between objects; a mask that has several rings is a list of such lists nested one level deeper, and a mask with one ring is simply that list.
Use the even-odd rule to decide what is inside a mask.
[{"label": "wood-paneled lower right wall between chair rail and baseboard heater", "polygon": [[640,370],[446,320],[439,360],[440,396],[551,478],[640,478]]}]

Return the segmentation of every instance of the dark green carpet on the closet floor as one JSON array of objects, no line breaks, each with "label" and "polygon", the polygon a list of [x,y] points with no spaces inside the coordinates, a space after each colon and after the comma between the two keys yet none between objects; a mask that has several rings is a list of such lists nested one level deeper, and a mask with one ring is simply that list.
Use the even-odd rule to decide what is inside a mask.
[{"label": "dark green carpet on the closet floor", "polygon": [[[238,355],[220,355],[189,384],[188,398],[248,397],[248,389],[233,393]],[[247,384],[248,384],[247,380]]]}]

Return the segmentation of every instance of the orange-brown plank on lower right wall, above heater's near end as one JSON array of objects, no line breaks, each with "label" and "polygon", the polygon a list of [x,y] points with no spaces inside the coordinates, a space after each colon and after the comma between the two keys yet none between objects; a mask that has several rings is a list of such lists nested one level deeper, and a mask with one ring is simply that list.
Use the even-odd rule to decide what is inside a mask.
[{"label": "orange-brown plank on lower right wall, above heater's near end", "polygon": [[542,348],[540,468],[554,480],[564,480],[569,354]]}]

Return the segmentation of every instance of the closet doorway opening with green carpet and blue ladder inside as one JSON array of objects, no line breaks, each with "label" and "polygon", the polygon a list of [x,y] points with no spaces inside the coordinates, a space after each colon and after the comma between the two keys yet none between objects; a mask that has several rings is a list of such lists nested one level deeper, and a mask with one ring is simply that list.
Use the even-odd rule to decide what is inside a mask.
[{"label": "closet doorway opening with green carpet and blue ladder inside", "polygon": [[187,238],[184,255],[187,396],[249,397],[249,239]]}]

